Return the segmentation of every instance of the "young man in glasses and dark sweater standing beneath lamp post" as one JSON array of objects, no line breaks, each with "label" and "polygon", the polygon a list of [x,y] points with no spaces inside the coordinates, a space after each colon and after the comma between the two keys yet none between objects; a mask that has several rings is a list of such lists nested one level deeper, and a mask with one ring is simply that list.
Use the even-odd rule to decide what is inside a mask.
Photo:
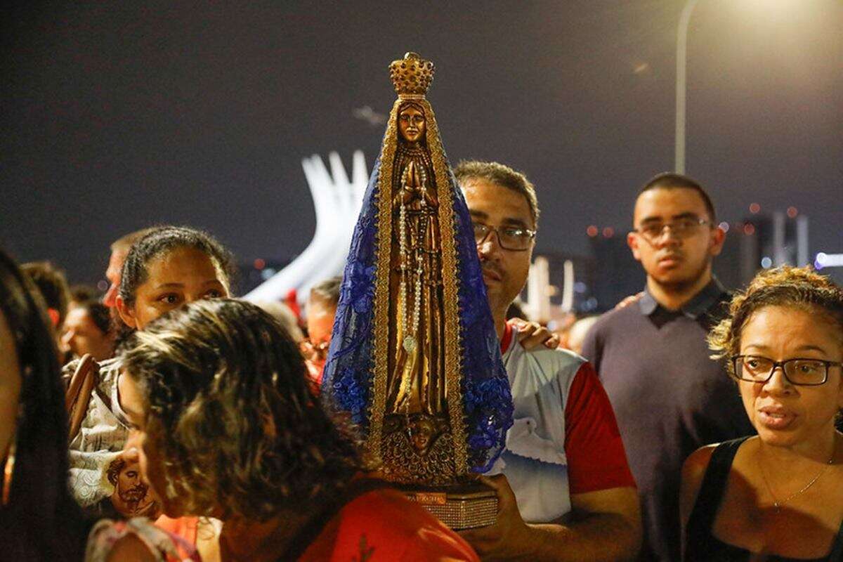
[{"label": "young man in glasses and dark sweater standing beneath lamp post", "polygon": [[711,274],[725,233],[693,179],[659,174],[643,186],[627,243],[647,273],[642,297],[588,332],[642,500],[641,559],[678,560],[679,478],[698,447],[754,433],[706,335],[728,292]]}]

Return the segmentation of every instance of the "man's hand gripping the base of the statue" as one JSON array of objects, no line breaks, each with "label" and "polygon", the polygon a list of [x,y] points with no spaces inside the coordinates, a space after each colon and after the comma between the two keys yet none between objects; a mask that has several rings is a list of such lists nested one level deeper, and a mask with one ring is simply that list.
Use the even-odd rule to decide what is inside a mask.
[{"label": "man's hand gripping the base of the statue", "polygon": [[507,477],[498,474],[480,476],[479,479],[497,492],[497,521],[489,527],[469,529],[459,534],[474,547],[481,559],[529,558],[530,528],[521,518]]}]

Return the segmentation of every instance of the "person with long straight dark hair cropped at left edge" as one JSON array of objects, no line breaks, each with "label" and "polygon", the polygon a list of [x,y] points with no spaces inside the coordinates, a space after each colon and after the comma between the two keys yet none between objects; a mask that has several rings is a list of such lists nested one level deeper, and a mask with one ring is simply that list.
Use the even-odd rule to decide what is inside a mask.
[{"label": "person with long straight dark hair cropped at left edge", "polygon": [[79,560],[56,342],[35,287],[0,251],[0,559]]}]

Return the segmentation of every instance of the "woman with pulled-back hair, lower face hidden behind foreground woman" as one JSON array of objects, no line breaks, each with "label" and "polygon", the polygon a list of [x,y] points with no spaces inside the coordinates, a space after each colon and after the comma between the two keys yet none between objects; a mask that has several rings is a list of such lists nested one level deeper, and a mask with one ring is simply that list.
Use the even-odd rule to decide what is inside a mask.
[{"label": "woman with pulled-back hair, lower face hidden behind foreground woman", "polygon": [[[132,245],[123,264],[116,308],[121,338],[173,308],[203,298],[228,297],[234,260],[210,234],[189,227],[155,227]],[[70,377],[78,367],[65,367]],[[95,517],[154,517],[149,498],[127,502],[106,477],[129,436],[121,409],[120,362],[100,361],[99,375],[78,432],[70,442],[70,484],[80,506]],[[138,483],[138,490],[144,484]],[[131,507],[136,509],[132,510]]]}]

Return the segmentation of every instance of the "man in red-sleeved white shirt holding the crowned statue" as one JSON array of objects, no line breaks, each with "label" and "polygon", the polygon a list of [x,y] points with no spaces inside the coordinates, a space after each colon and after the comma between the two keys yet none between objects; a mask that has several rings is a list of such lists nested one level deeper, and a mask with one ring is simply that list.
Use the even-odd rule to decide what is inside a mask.
[{"label": "man in red-sleeved white shirt holding the crowned statue", "polygon": [[497,522],[462,534],[483,558],[631,559],[641,534],[635,482],[596,373],[571,351],[525,348],[506,322],[532,258],[534,187],[500,163],[463,162],[454,174],[515,407],[502,474],[484,480],[497,490]]}]

